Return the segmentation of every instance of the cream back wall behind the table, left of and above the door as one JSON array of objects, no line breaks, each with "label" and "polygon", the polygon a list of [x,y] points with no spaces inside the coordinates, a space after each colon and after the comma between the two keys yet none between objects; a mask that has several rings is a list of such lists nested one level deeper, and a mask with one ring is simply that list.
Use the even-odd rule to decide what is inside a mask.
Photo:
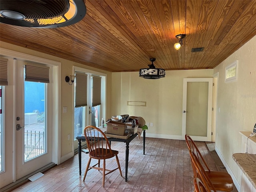
[{"label": "cream back wall behind the table, left of and above the door", "polygon": [[[156,138],[182,139],[183,78],[212,77],[213,70],[172,70],[166,77],[149,80],[138,72],[112,73],[112,115],[141,116],[153,122],[146,135]],[[127,101],[146,102],[128,106]]]}]

